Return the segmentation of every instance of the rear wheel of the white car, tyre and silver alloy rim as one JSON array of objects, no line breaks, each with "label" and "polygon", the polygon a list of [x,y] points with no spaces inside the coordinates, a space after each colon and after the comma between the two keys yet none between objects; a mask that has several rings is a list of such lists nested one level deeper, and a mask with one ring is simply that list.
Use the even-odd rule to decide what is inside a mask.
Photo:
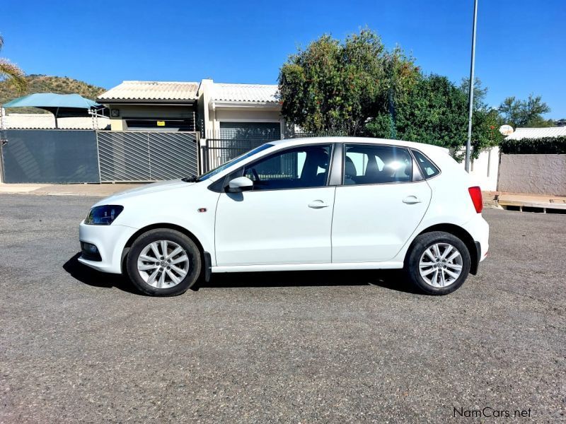
[{"label": "rear wheel of the white car, tyre and silver alloy rim", "polygon": [[405,273],[424,293],[447,295],[466,281],[470,264],[468,247],[458,237],[448,232],[425,232],[412,242]]}]

